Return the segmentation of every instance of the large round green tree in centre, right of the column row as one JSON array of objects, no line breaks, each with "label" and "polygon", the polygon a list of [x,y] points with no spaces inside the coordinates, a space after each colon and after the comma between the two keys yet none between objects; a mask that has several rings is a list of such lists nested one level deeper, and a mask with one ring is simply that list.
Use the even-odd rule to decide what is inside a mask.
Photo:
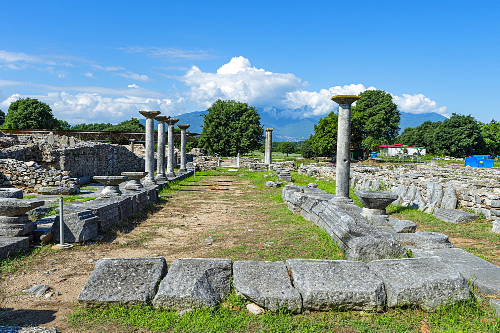
[{"label": "large round green tree in centre, right of the column row", "polygon": [[203,117],[198,145],[211,153],[234,156],[256,150],[263,139],[260,116],[248,103],[217,100]]}]

